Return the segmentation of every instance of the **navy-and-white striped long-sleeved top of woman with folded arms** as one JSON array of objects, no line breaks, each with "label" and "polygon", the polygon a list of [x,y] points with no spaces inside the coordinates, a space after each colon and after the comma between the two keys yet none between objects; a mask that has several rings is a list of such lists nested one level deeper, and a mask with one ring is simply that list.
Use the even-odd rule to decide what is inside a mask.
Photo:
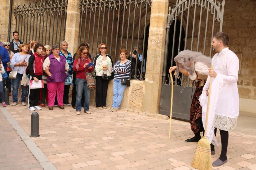
[{"label": "navy-and-white striped long-sleeved top of woman with folded arms", "polygon": [[[115,73],[114,78],[117,79],[130,79],[130,74],[131,74],[131,66],[132,62],[131,60],[127,60],[125,63],[120,64],[121,60],[117,61],[112,68],[112,72]],[[119,71],[125,72],[125,73],[118,73]]]}]

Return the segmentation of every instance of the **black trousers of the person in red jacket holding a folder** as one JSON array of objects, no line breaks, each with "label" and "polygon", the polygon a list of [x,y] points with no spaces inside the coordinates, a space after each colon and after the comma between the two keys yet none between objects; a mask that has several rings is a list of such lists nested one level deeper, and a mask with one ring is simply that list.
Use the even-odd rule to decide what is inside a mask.
[{"label": "black trousers of the person in red jacket holding a folder", "polygon": [[[35,77],[38,78],[38,80],[42,80],[42,75],[41,76],[35,75]],[[34,80],[34,78],[32,78],[30,76],[29,80]],[[29,88],[29,92],[28,92],[28,107],[37,106],[37,103],[39,102],[40,90],[41,89],[30,89]]]}]

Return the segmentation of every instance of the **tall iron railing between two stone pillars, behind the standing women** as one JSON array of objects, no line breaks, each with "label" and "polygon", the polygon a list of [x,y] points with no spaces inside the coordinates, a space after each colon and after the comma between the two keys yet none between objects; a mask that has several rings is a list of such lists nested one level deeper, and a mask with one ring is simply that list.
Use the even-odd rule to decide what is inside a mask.
[{"label": "tall iron railing between two stone pillars, behind the standing women", "polygon": [[[136,46],[140,58],[136,58],[132,79],[145,78],[145,61],[151,0],[80,0],[81,9],[79,43],[88,42],[90,53],[97,54],[97,46],[102,42],[108,45],[107,53],[115,61],[120,60],[119,50],[129,52]],[[138,55],[139,56],[139,55]],[[132,60],[132,58],[131,58]],[[138,62],[141,60],[140,68]]]}]

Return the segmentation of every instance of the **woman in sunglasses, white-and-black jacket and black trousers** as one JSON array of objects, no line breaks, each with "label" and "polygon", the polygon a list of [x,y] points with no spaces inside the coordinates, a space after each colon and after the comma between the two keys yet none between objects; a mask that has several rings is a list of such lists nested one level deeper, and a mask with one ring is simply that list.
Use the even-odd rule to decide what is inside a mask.
[{"label": "woman in sunglasses, white-and-black jacket and black trousers", "polygon": [[106,54],[107,45],[100,43],[98,46],[98,52],[94,58],[95,79],[96,79],[96,107],[98,109],[106,109],[107,92],[108,92],[108,80],[104,80],[102,75],[105,74],[108,77],[112,75],[113,62],[112,57]]}]

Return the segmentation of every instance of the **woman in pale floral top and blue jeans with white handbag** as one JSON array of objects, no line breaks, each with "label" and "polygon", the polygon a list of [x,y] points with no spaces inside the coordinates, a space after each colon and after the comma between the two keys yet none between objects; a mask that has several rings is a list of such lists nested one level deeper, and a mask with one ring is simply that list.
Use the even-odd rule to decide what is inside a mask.
[{"label": "woman in pale floral top and blue jeans with white handbag", "polygon": [[[17,76],[12,80],[12,106],[16,106],[18,102],[18,89],[20,86],[20,81],[28,66],[28,59],[30,55],[28,54],[29,46],[24,43],[19,46],[19,53],[15,53],[12,57],[11,67],[13,71],[17,71]],[[27,98],[27,86],[21,85],[21,104],[22,106],[26,106],[26,98]]]}]

